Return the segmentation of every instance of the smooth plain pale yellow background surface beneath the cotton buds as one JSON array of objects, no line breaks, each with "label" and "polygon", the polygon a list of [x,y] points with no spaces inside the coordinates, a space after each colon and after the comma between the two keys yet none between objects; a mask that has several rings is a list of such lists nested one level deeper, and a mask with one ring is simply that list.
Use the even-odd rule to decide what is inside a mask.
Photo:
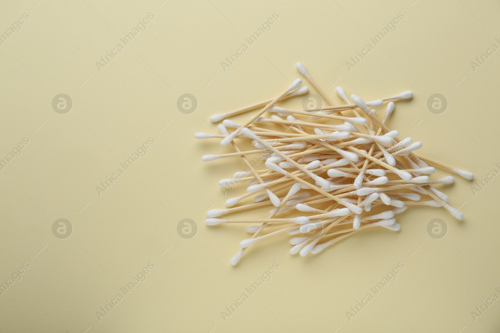
[{"label": "smooth plain pale yellow background surface beneath the cotton buds", "polygon": [[[500,301],[475,321],[471,312],[500,297],[500,176],[475,196],[473,181],[459,177],[443,187],[461,222],[442,208],[408,209],[398,233],[366,230],[306,258],[285,257],[283,235],[231,267],[248,234],[207,227],[204,213],[224,207],[217,181],[243,165],[201,162],[231,150],[193,138],[213,132],[211,114],[279,94],[300,77],[301,61],[335,103],[337,85],[366,100],[413,90],[396,103],[390,128],[422,141],[420,154],[473,172],[474,182],[500,171],[500,51],[471,65],[500,47],[497,1],[162,1],[1,3],[0,32],[24,12],[29,18],[0,45],[0,157],[29,143],[0,171],[0,282],[29,268],[0,295],[0,332],[498,332]],[[124,45],[148,13],[146,30]],[[273,13],[271,29],[249,45]],[[398,13],[396,29],[374,45]],[[123,49],[99,71],[96,61],[117,43]],[[224,71],[220,62],[242,43],[248,49]],[[346,61],[367,43],[373,49],[349,71]],[[51,106],[60,93],[73,102],[66,114]],[[177,109],[184,93],[197,99],[194,113]],[[427,109],[434,93],[447,99],[442,114]],[[123,170],[148,138],[146,155]],[[96,187],[118,168],[123,174],[99,196]],[[66,239],[52,233],[60,218],[73,227]],[[197,225],[191,239],[177,233],[186,218]],[[435,218],[448,227],[442,239],[427,234]],[[125,295],[120,288],[148,263],[146,280]],[[279,268],[250,295],[245,288],[273,263]],[[374,295],[398,263],[396,280]],[[224,321],[221,312],[243,293],[248,299]],[[349,321],[346,312],[368,293],[373,299]]]}]

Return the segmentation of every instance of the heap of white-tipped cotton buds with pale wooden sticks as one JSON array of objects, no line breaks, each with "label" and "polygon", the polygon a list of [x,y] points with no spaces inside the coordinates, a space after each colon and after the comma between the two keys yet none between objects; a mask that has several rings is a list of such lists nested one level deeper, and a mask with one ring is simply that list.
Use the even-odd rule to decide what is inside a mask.
[{"label": "heap of white-tipped cotton buds with pale wooden sticks", "polygon": [[[462,213],[446,203],[448,197],[432,187],[453,183],[454,178],[430,180],[427,175],[435,169],[427,163],[466,179],[472,179],[473,175],[416,156],[413,152],[422,146],[421,142],[412,142],[409,137],[401,139],[398,131],[391,131],[385,125],[394,110],[391,100],[411,98],[411,91],[365,102],[356,95],[351,95],[349,100],[344,90],[337,87],[336,93],[345,104],[334,106],[305,67],[301,63],[296,66],[330,106],[312,110],[276,106],[278,101],[308,92],[307,86],[300,86],[302,80],[296,79],[275,98],[210,117],[212,122],[224,119],[218,125],[220,134],[195,133],[198,139],[221,138],[221,146],[229,145],[234,150],[204,155],[203,161],[238,157],[247,167],[247,171],[238,171],[233,178],[219,181],[220,186],[247,181],[246,193],[228,199],[225,205],[230,208],[207,212],[206,224],[210,226],[258,223],[246,228],[253,236],[239,243],[241,250],[231,259],[231,265],[235,265],[252,244],[282,233],[303,235],[289,240],[293,245],[290,254],[300,253],[303,257],[309,252],[318,253],[361,229],[379,226],[398,231],[400,225],[394,215],[407,206],[444,207],[455,218],[463,218]],[[369,107],[382,106],[384,102],[388,103],[380,119]],[[243,124],[227,119],[257,108],[261,110]],[[263,117],[265,112],[271,115]],[[229,133],[227,128],[234,130]],[[235,139],[250,140],[256,149],[242,151]],[[247,157],[254,154],[265,160],[264,167],[260,165],[257,169],[258,163],[248,160]],[[422,199],[421,195],[427,197]],[[254,202],[239,204],[247,198]],[[274,206],[264,218],[231,220],[226,217],[264,206]],[[377,213],[368,213],[372,209]],[[297,212],[301,216],[297,217]],[[273,231],[266,233],[270,228]]]}]

